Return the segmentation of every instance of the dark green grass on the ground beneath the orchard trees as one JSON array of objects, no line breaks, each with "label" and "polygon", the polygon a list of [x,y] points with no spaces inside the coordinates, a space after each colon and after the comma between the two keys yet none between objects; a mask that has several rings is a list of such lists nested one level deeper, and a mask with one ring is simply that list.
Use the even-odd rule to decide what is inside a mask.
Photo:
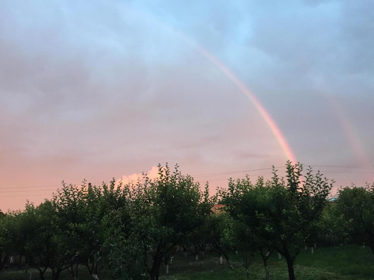
[{"label": "dark green grass on the ground beneath the orchard trees", "polygon": [[[368,280],[374,279],[374,258],[370,248],[362,249],[360,246],[349,245],[329,248],[316,248],[312,254],[310,249],[302,251],[295,261],[295,275],[297,280]],[[227,268],[227,264],[220,264],[219,258],[214,253],[206,254],[199,261],[194,256],[184,257],[179,254],[174,257],[173,264],[169,266],[169,275],[165,275],[165,267],[161,267],[162,280],[239,280],[247,279],[244,268],[230,256],[234,271]],[[270,275],[273,280],[287,280],[287,265],[285,259],[278,259],[273,253],[269,259]],[[85,267],[80,268],[80,280],[92,279]],[[28,280],[22,270],[6,270],[1,275],[5,280]],[[46,279],[50,278],[50,272],[46,272]],[[39,273],[32,271],[33,280],[39,279]],[[73,277],[68,271],[63,271],[61,280],[71,280]],[[109,280],[108,273],[101,273],[100,280]],[[264,280],[265,271],[260,258],[255,257],[249,268],[249,279]]]}]

